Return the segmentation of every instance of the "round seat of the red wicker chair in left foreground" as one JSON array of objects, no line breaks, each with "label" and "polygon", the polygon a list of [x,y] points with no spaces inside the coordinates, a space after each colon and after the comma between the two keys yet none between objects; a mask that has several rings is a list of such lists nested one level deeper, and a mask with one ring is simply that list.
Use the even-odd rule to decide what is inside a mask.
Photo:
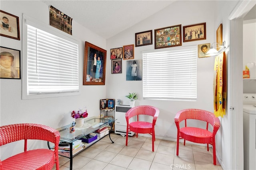
[{"label": "round seat of the red wicker chair in left foreground", "polygon": [[50,170],[55,163],[54,157],[54,151],[50,149],[29,150],[3,160],[1,168],[3,170]]}]

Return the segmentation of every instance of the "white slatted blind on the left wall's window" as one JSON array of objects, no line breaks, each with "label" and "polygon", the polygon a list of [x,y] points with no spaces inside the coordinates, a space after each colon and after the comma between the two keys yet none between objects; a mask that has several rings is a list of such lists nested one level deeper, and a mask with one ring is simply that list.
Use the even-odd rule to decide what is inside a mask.
[{"label": "white slatted blind on the left wall's window", "polygon": [[27,25],[27,90],[78,92],[78,44]]}]

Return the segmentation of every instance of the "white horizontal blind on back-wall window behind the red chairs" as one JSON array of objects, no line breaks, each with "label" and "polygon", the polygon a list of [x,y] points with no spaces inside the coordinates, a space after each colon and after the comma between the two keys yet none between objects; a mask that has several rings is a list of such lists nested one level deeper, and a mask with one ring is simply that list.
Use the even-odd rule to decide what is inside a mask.
[{"label": "white horizontal blind on back-wall window behind the red chairs", "polygon": [[197,47],[143,52],[143,98],[196,100]]}]

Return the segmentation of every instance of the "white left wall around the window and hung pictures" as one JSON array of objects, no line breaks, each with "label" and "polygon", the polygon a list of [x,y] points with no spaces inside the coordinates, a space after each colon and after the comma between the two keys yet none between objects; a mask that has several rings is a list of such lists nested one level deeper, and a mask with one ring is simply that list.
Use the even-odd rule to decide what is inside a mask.
[{"label": "white left wall around the window and hung pictures", "polygon": [[[49,26],[49,7],[40,1],[1,1],[1,10],[19,17],[21,40],[10,39],[1,36],[0,45],[12,49],[21,50],[22,54],[22,13],[35,18],[46,27],[58,33],[79,41],[79,75],[80,92],[78,96],[44,98],[34,100],[22,100],[22,80],[0,79],[0,125],[14,123],[39,123],[53,128],[59,128],[72,121],[70,111],[87,107],[89,116],[99,116],[100,99],[106,97],[105,86],[83,86],[84,42],[88,41],[102,49],[106,49],[106,39],[96,35],[87,28],[82,27],[73,20],[73,35],[70,36],[52,26]],[[61,9],[58,9],[61,10]],[[64,11],[62,11],[64,12]],[[64,12],[65,13],[65,12]],[[21,56],[26,57],[26,56]],[[26,64],[26,63],[22,63]],[[21,66],[22,66],[21,65]],[[22,73],[22,76],[26,76]],[[108,80],[106,79],[106,82]],[[10,147],[10,145],[12,147]],[[1,147],[1,160],[10,155],[22,152],[23,143],[10,144]],[[31,143],[28,149],[47,147],[46,142]]]}]

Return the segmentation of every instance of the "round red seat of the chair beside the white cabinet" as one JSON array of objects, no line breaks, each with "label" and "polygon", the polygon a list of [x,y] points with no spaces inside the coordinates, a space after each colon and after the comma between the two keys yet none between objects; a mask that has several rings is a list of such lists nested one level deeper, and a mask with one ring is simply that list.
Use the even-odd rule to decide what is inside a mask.
[{"label": "round red seat of the chair beside the white cabinet", "polygon": [[130,130],[137,133],[151,133],[152,123],[146,121],[134,121],[130,123]]}]

